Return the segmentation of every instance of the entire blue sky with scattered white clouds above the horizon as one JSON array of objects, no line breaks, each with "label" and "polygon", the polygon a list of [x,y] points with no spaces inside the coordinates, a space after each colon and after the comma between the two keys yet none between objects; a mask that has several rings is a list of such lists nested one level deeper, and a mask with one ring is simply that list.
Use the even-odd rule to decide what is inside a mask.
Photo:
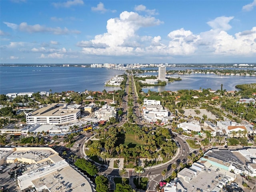
[{"label": "entire blue sky with scattered white clouds above the horizon", "polygon": [[256,0],[1,0],[0,63],[256,62]]}]

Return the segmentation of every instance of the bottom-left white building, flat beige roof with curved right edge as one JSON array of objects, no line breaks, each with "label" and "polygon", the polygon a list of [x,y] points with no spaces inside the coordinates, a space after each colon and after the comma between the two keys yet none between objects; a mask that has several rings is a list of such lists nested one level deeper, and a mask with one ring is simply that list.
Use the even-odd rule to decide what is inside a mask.
[{"label": "bottom-left white building, flat beige roof with curved right edge", "polygon": [[27,174],[19,176],[17,182],[20,190],[34,187],[36,191],[92,192],[90,182],[71,168],[65,160],[31,170]]}]

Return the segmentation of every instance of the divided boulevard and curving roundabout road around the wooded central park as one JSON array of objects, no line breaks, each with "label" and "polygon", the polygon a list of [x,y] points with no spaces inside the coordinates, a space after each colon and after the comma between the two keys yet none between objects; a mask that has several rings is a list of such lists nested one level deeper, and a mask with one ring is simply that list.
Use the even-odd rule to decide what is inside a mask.
[{"label": "divided boulevard and curving roundabout road around the wooded central park", "polygon": [[[126,93],[128,93],[129,90],[129,80],[126,83]],[[140,110],[139,110],[139,104],[137,103],[137,98],[138,95],[136,93],[136,89],[134,88],[134,81],[133,77],[131,78],[131,88],[130,90],[133,93],[133,99],[134,99],[134,114],[137,116],[137,124],[139,125],[144,125],[140,120],[141,120],[141,115],[140,115]],[[121,122],[119,124],[116,124],[116,126],[122,126],[125,121],[126,121],[126,112],[127,112],[127,103],[128,103],[128,94],[126,94],[123,98],[123,103],[122,103],[122,109],[123,109],[123,117]],[[148,125],[144,125],[148,126]],[[76,154],[77,156],[80,156],[81,158],[84,158],[84,154],[82,152],[82,147],[84,142],[86,141],[86,137],[90,136],[90,134],[84,135],[82,138],[78,139],[78,141],[74,144],[73,148],[71,149],[68,154],[73,153]],[[177,165],[179,162],[186,162],[187,157],[190,155],[190,153],[193,152],[192,149],[189,148],[188,144],[186,143],[186,137],[182,135],[177,135],[175,138],[175,141],[177,142],[179,148],[174,156],[170,161],[160,164],[157,166],[153,166],[150,168],[146,168],[145,172],[141,174],[141,177],[147,177],[148,178],[148,192],[155,192],[156,191],[156,186],[159,181],[162,180],[162,171],[167,170],[166,173],[166,178],[172,174],[172,164],[176,163]],[[113,169],[113,168],[104,168],[103,166],[98,166],[99,168],[99,174],[104,174],[107,176],[110,181],[111,181],[111,188],[114,188],[114,183],[113,183],[113,178],[116,176],[120,176],[119,170],[118,169]],[[136,173],[134,173],[133,170],[128,170],[126,174],[124,174],[124,177],[126,178],[133,178],[136,177]]]}]

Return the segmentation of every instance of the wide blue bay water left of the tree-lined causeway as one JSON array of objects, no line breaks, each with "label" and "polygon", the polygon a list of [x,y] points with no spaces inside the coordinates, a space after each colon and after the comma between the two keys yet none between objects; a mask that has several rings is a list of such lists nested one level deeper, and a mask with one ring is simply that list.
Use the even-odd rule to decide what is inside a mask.
[{"label": "wide blue bay water left of the tree-lined causeway", "polygon": [[122,70],[82,67],[0,67],[0,94],[74,90],[118,90],[104,83]]}]

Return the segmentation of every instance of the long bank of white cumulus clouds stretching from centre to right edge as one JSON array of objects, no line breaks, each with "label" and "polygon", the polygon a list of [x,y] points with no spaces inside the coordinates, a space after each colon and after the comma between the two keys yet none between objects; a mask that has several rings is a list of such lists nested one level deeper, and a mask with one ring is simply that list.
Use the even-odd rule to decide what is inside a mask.
[{"label": "long bank of white cumulus clouds stretching from centre to right edge", "polygon": [[[138,10],[146,7],[138,6]],[[253,56],[256,54],[256,27],[251,30],[228,34],[232,28],[230,21],[233,16],[217,17],[207,24],[210,30],[193,34],[190,30],[180,28],[170,31],[168,39],[161,36],[143,36],[138,31],[143,27],[162,24],[152,16],[142,16],[136,12],[124,11],[118,18],[107,21],[104,34],[98,34],[88,41],[80,41],[82,53],[102,56],[147,56],[166,58],[177,56],[207,57],[223,56]],[[141,30],[140,30],[141,31]]]}]

